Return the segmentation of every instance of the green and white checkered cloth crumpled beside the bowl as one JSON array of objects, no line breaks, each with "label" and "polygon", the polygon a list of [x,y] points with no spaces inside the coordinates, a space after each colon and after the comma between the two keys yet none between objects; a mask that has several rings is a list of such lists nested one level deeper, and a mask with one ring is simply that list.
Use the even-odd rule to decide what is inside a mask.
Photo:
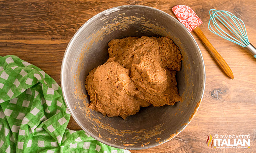
[{"label": "green and white checkered cloth crumpled beside the bowl", "polygon": [[60,86],[17,56],[0,56],[0,152],[129,153],[67,129]]}]

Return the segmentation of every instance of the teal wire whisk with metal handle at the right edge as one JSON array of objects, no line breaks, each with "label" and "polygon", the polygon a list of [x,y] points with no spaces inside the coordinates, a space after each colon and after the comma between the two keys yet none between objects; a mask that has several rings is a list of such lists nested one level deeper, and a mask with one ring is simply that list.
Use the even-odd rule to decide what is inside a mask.
[{"label": "teal wire whisk with metal handle at the right edge", "polygon": [[[229,30],[231,36],[227,31],[223,30],[216,21],[219,21],[224,27]],[[214,27],[212,27],[211,23]],[[256,58],[256,48],[249,42],[244,22],[237,18],[234,14],[228,11],[220,11],[210,9],[210,20],[208,29],[214,34],[236,43],[248,50],[253,57]]]}]

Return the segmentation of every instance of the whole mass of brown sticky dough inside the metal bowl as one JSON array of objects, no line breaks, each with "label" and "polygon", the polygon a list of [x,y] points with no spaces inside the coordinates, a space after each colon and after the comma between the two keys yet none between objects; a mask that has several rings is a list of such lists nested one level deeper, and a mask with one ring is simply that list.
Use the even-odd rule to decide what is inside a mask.
[{"label": "whole mass of brown sticky dough inside the metal bowl", "polygon": [[108,61],[86,78],[90,109],[125,119],[140,107],[182,100],[175,78],[182,56],[171,39],[127,37],[113,39],[108,46]]}]

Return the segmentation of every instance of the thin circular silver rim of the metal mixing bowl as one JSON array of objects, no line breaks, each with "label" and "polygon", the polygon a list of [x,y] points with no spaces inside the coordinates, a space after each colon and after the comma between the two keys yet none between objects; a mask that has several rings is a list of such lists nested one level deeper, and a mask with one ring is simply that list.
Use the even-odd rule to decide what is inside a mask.
[{"label": "thin circular silver rim of the metal mixing bowl", "polygon": [[[62,64],[61,64],[60,84],[61,84],[61,89],[62,89],[64,101],[65,101],[65,103],[66,103],[66,105],[67,105],[67,108],[68,108],[68,110],[69,110],[71,116],[72,116],[73,119],[76,121],[76,123],[77,123],[87,134],[89,134],[89,135],[90,135],[92,138],[94,138],[95,140],[100,141],[101,143],[107,144],[108,146],[111,146],[111,147],[114,147],[114,148],[128,149],[128,150],[142,150],[142,149],[152,148],[152,147],[158,146],[158,145],[160,145],[160,144],[159,144],[159,143],[148,144],[147,147],[143,147],[143,148],[139,148],[139,147],[135,147],[135,146],[134,146],[134,147],[133,147],[133,146],[122,147],[122,146],[119,146],[119,145],[116,145],[116,144],[111,144],[111,143],[102,141],[101,139],[98,139],[98,136],[97,136],[97,135],[94,135],[94,134],[92,134],[91,132],[89,132],[85,127],[82,126],[82,124],[77,120],[77,118],[72,115],[73,110],[70,109],[71,106],[70,106],[69,103],[67,102],[67,99],[68,99],[68,98],[67,98],[67,93],[65,92],[65,91],[67,91],[67,89],[66,89],[65,86],[63,86],[63,80],[65,80],[65,79],[64,79],[64,75],[63,75],[63,70],[64,70],[63,67],[64,67],[64,65],[66,65],[66,64],[65,64],[65,63],[66,63],[66,60],[67,60],[67,56],[66,56],[66,55],[67,55],[67,52],[70,51],[70,46],[71,46],[71,44],[73,43],[73,40],[78,36],[78,33],[80,33],[80,29],[82,29],[84,26],[88,25],[93,19],[97,18],[98,16],[100,16],[100,15],[102,15],[102,14],[109,14],[109,13],[111,13],[111,12],[115,12],[115,11],[120,10],[120,8],[125,8],[125,7],[142,7],[142,8],[152,9],[152,10],[155,10],[155,11],[157,11],[157,12],[159,12],[159,13],[162,13],[162,14],[164,14],[164,15],[169,16],[169,18],[174,19],[174,20],[173,20],[174,22],[176,22],[176,23],[179,24],[179,25],[182,25],[183,29],[188,33],[188,35],[191,36],[191,38],[193,39],[194,43],[196,44],[196,46],[197,46],[197,48],[198,48],[198,50],[199,50],[199,53],[200,53],[200,57],[201,57],[202,63],[203,63],[203,64],[202,64],[202,65],[203,65],[203,92],[202,92],[201,99],[200,99],[200,101],[202,101],[203,95],[204,95],[204,90],[205,90],[206,74],[205,74],[205,65],[204,65],[203,56],[202,56],[201,50],[200,50],[200,48],[199,48],[199,46],[198,46],[196,40],[194,39],[194,37],[192,36],[192,34],[188,31],[188,29],[186,29],[186,27],[185,27],[183,24],[181,24],[176,18],[172,17],[171,15],[169,15],[168,13],[166,13],[166,12],[164,12],[164,11],[162,11],[162,10],[155,9],[155,8],[152,8],[152,7],[149,7],[149,6],[145,6],[145,5],[121,5],[121,6],[113,7],[113,8],[106,9],[106,10],[104,10],[104,11],[102,11],[102,12],[100,12],[100,13],[94,15],[94,16],[91,17],[89,20],[87,20],[87,21],[77,30],[77,32],[73,35],[73,37],[70,39],[70,42],[69,42],[68,45],[67,45],[67,48],[66,48],[65,53],[64,53],[64,56],[63,56]],[[195,111],[193,114],[196,114],[196,112],[198,111],[199,107],[200,107],[200,103],[199,103],[198,107],[196,108],[196,111]],[[188,124],[193,120],[194,116],[195,116],[195,115],[192,116],[192,119],[191,119],[190,121],[188,121],[187,124],[186,124],[180,131],[178,131],[175,136],[177,136],[180,132],[182,132],[182,131],[188,126]],[[175,137],[175,136],[174,136],[174,137]],[[174,138],[174,137],[172,137],[172,138]],[[164,140],[163,143],[161,143],[161,144],[164,144],[164,143],[170,141],[172,138]]]}]

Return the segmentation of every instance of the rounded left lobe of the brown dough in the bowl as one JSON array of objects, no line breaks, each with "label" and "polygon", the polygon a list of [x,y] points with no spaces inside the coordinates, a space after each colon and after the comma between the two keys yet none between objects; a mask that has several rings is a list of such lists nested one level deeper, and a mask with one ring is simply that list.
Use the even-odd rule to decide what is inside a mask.
[{"label": "rounded left lobe of the brown dough in the bowl", "polygon": [[140,105],[134,97],[138,94],[128,70],[117,62],[107,62],[94,68],[86,78],[86,90],[90,95],[89,108],[108,117],[136,114]]}]

